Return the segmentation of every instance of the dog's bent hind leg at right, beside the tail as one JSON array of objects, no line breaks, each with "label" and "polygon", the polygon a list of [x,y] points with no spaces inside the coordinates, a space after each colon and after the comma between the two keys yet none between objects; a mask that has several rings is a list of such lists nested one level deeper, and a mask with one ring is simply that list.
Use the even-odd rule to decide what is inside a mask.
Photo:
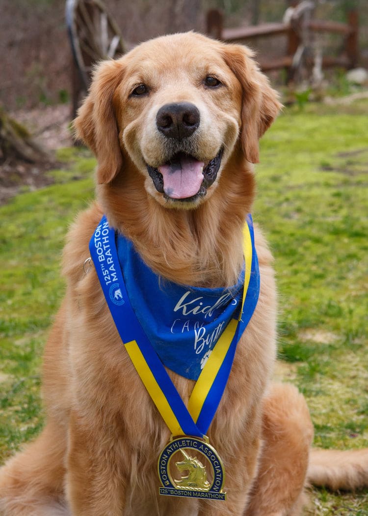
[{"label": "dog's bent hind leg at right, beside the tail", "polygon": [[275,384],[263,400],[263,447],[245,516],[298,516],[313,439],[305,399]]}]

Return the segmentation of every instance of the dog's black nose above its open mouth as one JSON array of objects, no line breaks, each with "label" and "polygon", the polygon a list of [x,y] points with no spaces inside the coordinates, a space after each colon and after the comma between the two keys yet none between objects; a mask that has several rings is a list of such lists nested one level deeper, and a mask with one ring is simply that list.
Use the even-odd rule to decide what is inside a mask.
[{"label": "dog's black nose above its open mouth", "polygon": [[199,111],[194,104],[165,104],[157,113],[158,130],[168,138],[188,138],[199,126]]}]

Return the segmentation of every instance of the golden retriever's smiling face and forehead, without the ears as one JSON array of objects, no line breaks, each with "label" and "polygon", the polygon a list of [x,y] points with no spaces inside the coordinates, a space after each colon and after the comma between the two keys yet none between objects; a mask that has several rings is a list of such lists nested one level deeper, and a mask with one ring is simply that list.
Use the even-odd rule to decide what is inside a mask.
[{"label": "golden retriever's smiling face and forehead, without the ears", "polygon": [[186,35],[139,46],[114,94],[121,141],[159,202],[203,198],[238,138],[240,84],[214,45],[198,43]]}]

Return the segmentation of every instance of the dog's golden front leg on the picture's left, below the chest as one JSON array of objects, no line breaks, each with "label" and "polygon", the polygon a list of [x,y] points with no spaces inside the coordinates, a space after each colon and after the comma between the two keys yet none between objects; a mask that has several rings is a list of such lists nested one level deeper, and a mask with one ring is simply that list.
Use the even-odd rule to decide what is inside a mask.
[{"label": "dog's golden front leg on the picture's left, below the chest", "polygon": [[103,428],[96,421],[87,424],[71,414],[66,495],[73,516],[122,515],[124,474],[117,448],[108,425]]}]

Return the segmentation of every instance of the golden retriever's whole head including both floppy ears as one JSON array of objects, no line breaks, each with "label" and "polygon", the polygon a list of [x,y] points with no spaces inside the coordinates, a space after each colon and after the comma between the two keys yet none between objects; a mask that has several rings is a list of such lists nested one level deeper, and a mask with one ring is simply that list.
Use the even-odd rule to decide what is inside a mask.
[{"label": "golden retriever's whole head including both floppy ears", "polygon": [[75,127],[97,156],[98,183],[133,168],[160,204],[193,208],[235,155],[258,162],[277,99],[246,47],[176,34],[102,62]]}]

